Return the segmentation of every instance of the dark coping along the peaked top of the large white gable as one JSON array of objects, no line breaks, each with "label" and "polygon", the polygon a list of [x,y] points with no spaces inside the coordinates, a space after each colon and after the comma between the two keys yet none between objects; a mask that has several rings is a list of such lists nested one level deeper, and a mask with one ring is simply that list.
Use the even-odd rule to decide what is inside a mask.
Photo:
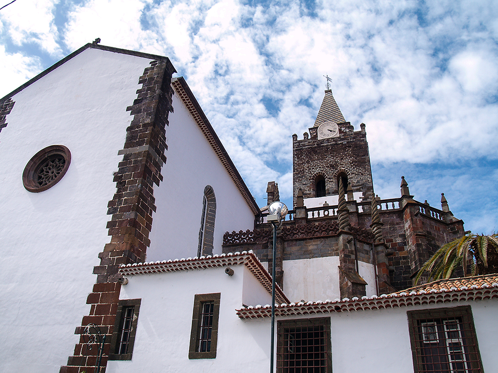
[{"label": "dark coping along the peaked top of the large white gable", "polygon": [[73,53],[67,55],[66,57],[64,57],[62,60],[56,62],[55,64],[53,64],[52,66],[50,66],[48,69],[42,71],[40,74],[36,75],[34,78],[31,78],[30,80],[28,80],[26,83],[24,83],[22,86],[16,88],[15,90],[13,90],[12,92],[10,93],[7,93],[5,96],[3,96],[2,98],[0,98],[0,102],[12,97],[14,94],[16,93],[19,93],[20,91],[22,91],[24,88],[30,86],[31,84],[33,84],[34,82],[36,82],[37,80],[43,78],[45,75],[47,75],[48,73],[50,73],[51,71],[57,69],[59,66],[63,65],[64,63],[66,63],[67,61],[69,61],[70,59],[72,59],[73,57],[79,55],[81,52],[83,52],[84,50],[88,49],[88,48],[93,48],[93,49],[101,49],[101,50],[104,50],[104,51],[109,51],[109,52],[113,52],[113,53],[121,53],[121,54],[126,54],[126,55],[130,55],[130,56],[135,56],[135,57],[142,57],[142,58],[146,58],[146,59],[150,59],[150,60],[154,60],[154,61],[163,61],[163,62],[166,62],[168,65],[169,65],[169,69],[172,70],[173,72],[176,73],[176,70],[175,68],[173,67],[173,64],[171,63],[171,61],[169,60],[168,57],[165,57],[165,56],[159,56],[159,55],[156,55],[156,54],[150,54],[150,53],[143,53],[143,52],[137,52],[137,51],[130,51],[130,50],[127,50],[127,49],[121,49],[121,48],[115,48],[115,47],[109,47],[109,46],[106,46],[106,45],[100,45],[100,44],[93,44],[93,43],[88,43],[88,44],[85,44],[83,47],[75,50]]}]

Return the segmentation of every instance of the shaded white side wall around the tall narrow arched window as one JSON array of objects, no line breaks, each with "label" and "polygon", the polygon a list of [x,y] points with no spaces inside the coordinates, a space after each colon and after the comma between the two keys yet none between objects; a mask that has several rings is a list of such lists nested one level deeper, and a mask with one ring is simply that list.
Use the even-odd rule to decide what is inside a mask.
[{"label": "shaded white side wall around the tall narrow arched window", "polygon": [[216,220],[213,254],[221,254],[226,231],[252,229],[254,214],[183,102],[173,96],[166,127],[164,180],[154,188],[147,261],[197,256],[204,188],[213,187]]}]

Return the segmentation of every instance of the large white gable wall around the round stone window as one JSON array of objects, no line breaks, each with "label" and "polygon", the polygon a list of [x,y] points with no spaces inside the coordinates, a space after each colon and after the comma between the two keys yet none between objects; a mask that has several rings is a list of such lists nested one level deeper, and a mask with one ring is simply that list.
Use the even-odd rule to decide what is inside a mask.
[{"label": "large white gable wall around the round stone window", "polygon": [[[12,97],[0,133],[2,372],[59,372],[73,354],[93,267],[109,242],[126,106],[148,64],[90,48]],[[28,192],[24,167],[54,144],[71,151],[69,170],[54,187]]]}]

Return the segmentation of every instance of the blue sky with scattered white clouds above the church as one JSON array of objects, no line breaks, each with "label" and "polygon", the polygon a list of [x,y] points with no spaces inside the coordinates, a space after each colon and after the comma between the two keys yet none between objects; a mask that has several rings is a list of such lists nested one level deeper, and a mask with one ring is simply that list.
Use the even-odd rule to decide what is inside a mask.
[{"label": "blue sky with scattered white clouds above the church", "polygon": [[466,229],[498,230],[497,1],[16,0],[0,10],[0,96],[97,37],[171,59],[260,205],[273,180],[292,205],[291,136],[328,74],[367,125],[381,198],[403,175]]}]

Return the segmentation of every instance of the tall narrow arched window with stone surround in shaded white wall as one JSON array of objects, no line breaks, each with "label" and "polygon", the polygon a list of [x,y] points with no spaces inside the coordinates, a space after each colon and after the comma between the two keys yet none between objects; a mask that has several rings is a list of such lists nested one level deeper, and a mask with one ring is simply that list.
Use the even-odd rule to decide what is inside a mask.
[{"label": "tall narrow arched window with stone surround in shaded white wall", "polygon": [[197,256],[213,255],[213,237],[215,232],[216,197],[213,187],[204,188],[202,197],[201,227],[199,229],[199,245]]}]

